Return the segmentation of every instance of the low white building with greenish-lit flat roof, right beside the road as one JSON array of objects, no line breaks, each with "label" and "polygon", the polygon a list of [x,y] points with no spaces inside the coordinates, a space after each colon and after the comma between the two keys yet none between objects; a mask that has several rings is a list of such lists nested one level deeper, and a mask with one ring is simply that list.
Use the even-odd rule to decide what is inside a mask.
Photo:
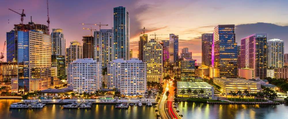
[{"label": "low white building with greenish-lit flat roof, right beside the road", "polygon": [[[198,93],[187,93],[187,89],[190,88],[192,91],[196,90]],[[185,93],[182,94],[182,89],[185,90]],[[199,90],[203,90],[204,93],[199,93]],[[195,98],[214,98],[214,87],[209,85],[206,82],[192,82],[192,81],[178,81],[177,82],[177,96],[178,97],[195,97]]]}]

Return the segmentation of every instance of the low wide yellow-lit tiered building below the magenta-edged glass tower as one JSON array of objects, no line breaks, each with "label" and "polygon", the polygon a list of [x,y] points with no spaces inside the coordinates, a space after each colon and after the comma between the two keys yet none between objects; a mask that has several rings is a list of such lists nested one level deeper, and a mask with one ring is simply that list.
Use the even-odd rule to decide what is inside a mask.
[{"label": "low wide yellow-lit tiered building below the magenta-edged glass tower", "polygon": [[250,93],[257,93],[262,91],[261,83],[250,81],[242,78],[213,78],[213,82],[221,87],[220,91],[223,94],[229,95],[230,91],[237,92],[247,89]]}]

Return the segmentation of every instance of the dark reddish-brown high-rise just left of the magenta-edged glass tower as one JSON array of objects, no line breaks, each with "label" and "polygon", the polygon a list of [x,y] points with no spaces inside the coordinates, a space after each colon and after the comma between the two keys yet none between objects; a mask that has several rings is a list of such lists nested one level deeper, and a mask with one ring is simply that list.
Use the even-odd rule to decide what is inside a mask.
[{"label": "dark reddish-brown high-rise just left of the magenta-edged glass tower", "polygon": [[202,65],[211,67],[213,34],[202,34]]}]

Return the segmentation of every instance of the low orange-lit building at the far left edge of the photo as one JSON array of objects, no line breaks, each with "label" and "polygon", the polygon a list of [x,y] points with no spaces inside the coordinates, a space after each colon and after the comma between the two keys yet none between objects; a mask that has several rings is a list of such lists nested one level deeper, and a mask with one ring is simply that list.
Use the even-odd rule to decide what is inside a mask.
[{"label": "low orange-lit building at the far left edge of the photo", "polygon": [[10,82],[17,78],[18,65],[16,62],[0,62],[0,81]]}]

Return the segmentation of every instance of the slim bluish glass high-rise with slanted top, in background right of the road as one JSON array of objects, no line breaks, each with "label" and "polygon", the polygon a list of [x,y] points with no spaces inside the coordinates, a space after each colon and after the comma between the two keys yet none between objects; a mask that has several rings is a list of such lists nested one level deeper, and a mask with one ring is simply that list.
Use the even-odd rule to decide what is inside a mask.
[{"label": "slim bluish glass high-rise with slanted top, in background right of the road", "polygon": [[173,66],[178,66],[179,65],[179,49],[178,49],[178,35],[174,35],[174,34],[169,34],[169,63],[170,65]]}]

